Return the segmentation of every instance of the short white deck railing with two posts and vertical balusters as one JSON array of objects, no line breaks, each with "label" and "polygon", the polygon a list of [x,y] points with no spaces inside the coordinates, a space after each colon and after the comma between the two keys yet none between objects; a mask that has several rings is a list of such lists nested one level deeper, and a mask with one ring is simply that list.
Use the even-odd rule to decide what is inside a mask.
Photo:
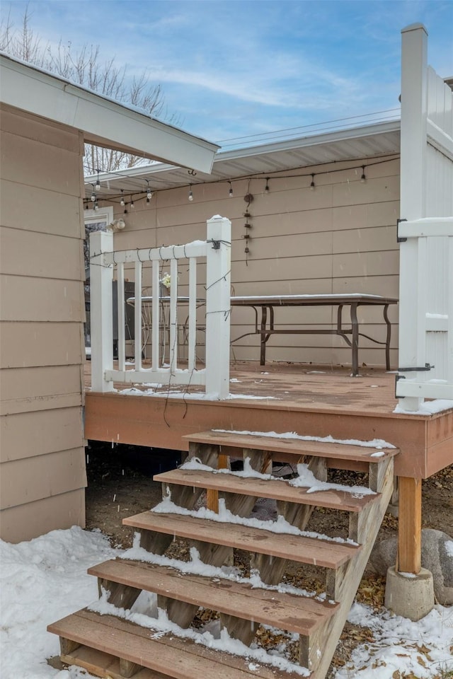
[{"label": "short white deck railing with two posts and vertical balusters", "polygon": [[[135,250],[113,249],[113,233],[98,231],[90,237],[91,278],[91,388],[113,391],[113,382],[205,385],[212,398],[229,394],[229,313],[231,269],[231,222],[214,216],[207,221],[207,239],[185,245]],[[205,276],[198,265],[205,264]],[[182,265],[185,265],[182,271]],[[126,362],[125,265],[134,267],[134,364]],[[169,296],[161,298],[163,267],[169,266]],[[142,294],[145,276],[150,274],[146,299]],[[180,282],[179,278],[183,277]],[[113,280],[117,280],[118,359],[113,365]],[[178,285],[188,294],[183,298]],[[197,369],[196,335],[202,286],[205,301],[205,367]],[[168,299],[168,301],[167,301]],[[144,368],[144,305],[149,315],[151,366]],[[184,318],[178,318],[183,313]],[[178,332],[183,321],[187,361],[181,367]],[[146,333],[147,334],[147,333]],[[166,340],[168,339],[168,344]],[[166,349],[164,349],[166,344]]]}]

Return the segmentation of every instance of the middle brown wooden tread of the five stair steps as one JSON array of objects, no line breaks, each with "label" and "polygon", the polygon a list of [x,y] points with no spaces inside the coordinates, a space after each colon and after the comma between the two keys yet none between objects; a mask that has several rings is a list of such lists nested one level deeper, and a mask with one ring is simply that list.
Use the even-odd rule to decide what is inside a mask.
[{"label": "middle brown wooden tread of the five stair steps", "polygon": [[179,538],[210,542],[214,545],[236,547],[246,552],[258,552],[302,564],[337,569],[355,555],[359,545],[347,542],[306,538],[304,535],[272,533],[270,530],[251,528],[236,523],[208,521],[185,514],[165,514],[144,511],[136,516],[123,518],[125,526]]}]

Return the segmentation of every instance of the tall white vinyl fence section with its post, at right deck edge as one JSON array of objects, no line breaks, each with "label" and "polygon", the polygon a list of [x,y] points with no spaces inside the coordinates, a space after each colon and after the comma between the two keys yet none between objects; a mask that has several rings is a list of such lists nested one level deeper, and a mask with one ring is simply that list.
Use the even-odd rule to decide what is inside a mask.
[{"label": "tall white vinyl fence section with its post, at right deck edge", "polygon": [[403,30],[396,395],[406,410],[453,399],[453,92],[427,49],[422,25]]}]

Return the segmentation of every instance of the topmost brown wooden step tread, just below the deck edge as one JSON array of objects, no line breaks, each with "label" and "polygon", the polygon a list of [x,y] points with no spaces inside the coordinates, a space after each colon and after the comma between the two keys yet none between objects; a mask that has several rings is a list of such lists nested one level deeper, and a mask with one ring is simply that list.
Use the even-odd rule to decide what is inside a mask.
[{"label": "topmost brown wooden step tread, just below the deck edge", "polygon": [[[326,443],[324,441],[302,441],[302,439],[282,439],[274,436],[254,436],[253,434],[234,434],[231,431],[200,431],[182,437],[193,443],[209,443],[216,446],[249,448],[257,451],[293,453],[294,455],[316,455],[338,460],[379,463],[399,453],[397,448],[368,448],[350,446],[346,443]],[[382,453],[382,455],[374,455]]]}]

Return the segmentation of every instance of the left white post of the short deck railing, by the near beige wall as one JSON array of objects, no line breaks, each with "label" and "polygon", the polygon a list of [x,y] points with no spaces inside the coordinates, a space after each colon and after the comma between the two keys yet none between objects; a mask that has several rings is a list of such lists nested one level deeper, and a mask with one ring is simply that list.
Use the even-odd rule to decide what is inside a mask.
[{"label": "left white post of the short deck railing, by the near beige wall", "polygon": [[113,369],[113,232],[95,231],[90,236],[91,390],[113,391],[105,371]]}]

